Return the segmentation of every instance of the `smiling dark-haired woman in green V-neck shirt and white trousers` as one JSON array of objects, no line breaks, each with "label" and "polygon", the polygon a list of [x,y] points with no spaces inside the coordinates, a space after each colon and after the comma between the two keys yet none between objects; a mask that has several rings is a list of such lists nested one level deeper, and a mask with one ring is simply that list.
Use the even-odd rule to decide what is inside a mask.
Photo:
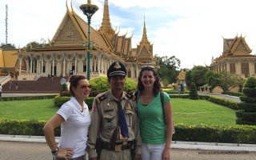
[{"label": "smiling dark-haired woman in green V-neck shirt and white trousers", "polygon": [[170,159],[173,117],[170,97],[163,94],[153,66],[143,66],[138,76],[138,118],[142,137],[142,160]]}]

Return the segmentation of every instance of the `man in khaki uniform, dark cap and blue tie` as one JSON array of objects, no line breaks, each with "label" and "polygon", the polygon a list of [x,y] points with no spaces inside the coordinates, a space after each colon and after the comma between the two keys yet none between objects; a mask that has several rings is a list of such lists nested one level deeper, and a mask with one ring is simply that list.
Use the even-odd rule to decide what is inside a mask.
[{"label": "man in khaki uniform, dark cap and blue tie", "polygon": [[[126,66],[114,62],[107,70],[110,90],[94,98],[87,150],[89,159],[130,160],[130,147],[139,139],[137,114],[134,102],[123,91]],[[102,149],[98,155],[97,147]],[[140,139],[136,159],[140,158]]]}]

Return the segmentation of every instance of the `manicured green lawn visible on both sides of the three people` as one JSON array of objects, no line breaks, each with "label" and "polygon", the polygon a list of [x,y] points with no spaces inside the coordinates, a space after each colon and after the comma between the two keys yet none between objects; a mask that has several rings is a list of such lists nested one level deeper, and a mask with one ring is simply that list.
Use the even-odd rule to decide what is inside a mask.
[{"label": "manicured green lawn visible on both sides of the three people", "polygon": [[[185,124],[235,124],[234,110],[204,100],[171,99],[174,123]],[[58,107],[53,99],[0,102],[0,118],[48,120]]]}]

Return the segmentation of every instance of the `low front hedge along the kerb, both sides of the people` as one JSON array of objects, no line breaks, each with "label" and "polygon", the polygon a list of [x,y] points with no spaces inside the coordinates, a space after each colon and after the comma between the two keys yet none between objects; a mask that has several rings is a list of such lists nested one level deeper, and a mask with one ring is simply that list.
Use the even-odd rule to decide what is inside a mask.
[{"label": "low front hedge along the kerb, both sides of the people", "polygon": [[[46,121],[0,120],[0,134],[42,136]],[[55,135],[60,135],[59,128]],[[256,144],[256,126],[175,124],[174,141]]]}]

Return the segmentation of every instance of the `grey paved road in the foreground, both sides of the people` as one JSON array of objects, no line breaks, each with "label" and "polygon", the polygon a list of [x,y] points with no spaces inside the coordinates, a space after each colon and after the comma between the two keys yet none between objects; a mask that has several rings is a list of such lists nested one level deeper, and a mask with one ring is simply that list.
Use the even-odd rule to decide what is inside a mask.
[{"label": "grey paved road in the foreground, both sides of the people", "polygon": [[[172,149],[172,160],[255,160],[256,152],[222,150]],[[50,160],[50,149],[45,142],[0,141],[1,160]]]}]

